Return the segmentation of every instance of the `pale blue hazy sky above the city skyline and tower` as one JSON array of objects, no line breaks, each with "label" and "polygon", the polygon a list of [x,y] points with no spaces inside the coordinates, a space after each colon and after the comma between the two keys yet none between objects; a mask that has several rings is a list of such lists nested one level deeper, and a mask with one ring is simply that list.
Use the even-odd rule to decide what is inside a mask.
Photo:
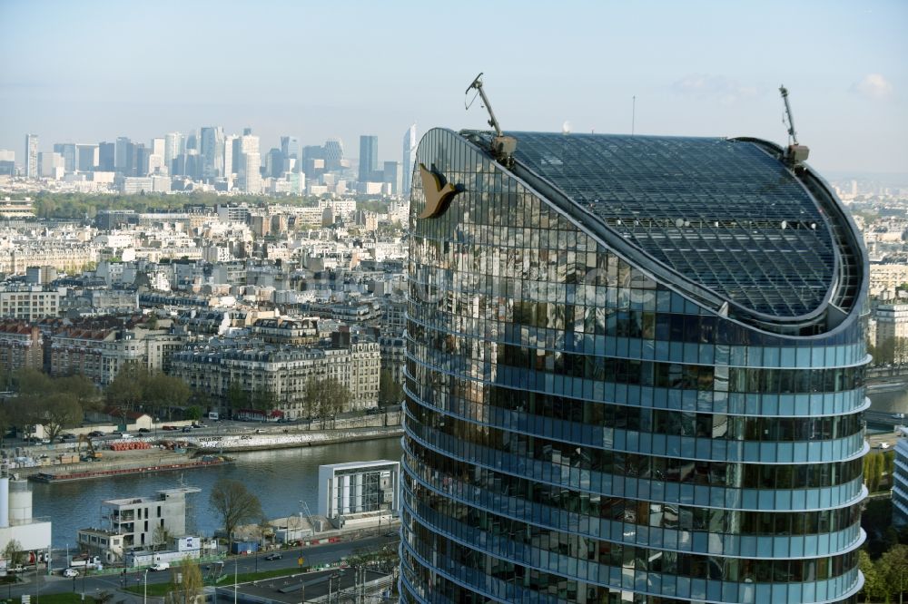
[{"label": "pale blue hazy sky above the city skyline and tower", "polygon": [[262,154],[417,122],[750,135],[785,142],[778,86],[819,170],[908,172],[908,2],[0,0],[0,149],[251,126]]}]

